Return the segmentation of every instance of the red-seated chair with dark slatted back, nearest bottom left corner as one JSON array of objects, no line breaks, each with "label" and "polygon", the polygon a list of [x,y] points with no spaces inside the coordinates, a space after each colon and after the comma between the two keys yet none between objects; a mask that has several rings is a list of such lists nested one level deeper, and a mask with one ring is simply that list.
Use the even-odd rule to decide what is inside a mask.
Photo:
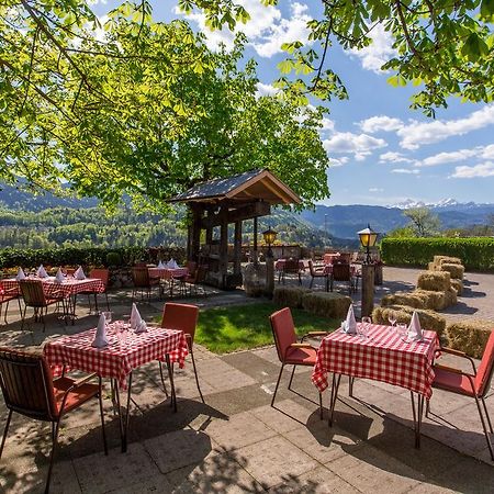
[{"label": "red-seated chair with dark slatted back, nearest bottom left corner", "polygon": [[16,412],[35,420],[52,423],[53,447],[49,454],[48,476],[45,493],[49,491],[49,481],[57,447],[60,419],[67,413],[98,396],[100,402],[101,431],[103,435],[104,453],[108,454],[104,434],[103,403],[101,378],[98,384],[88,381],[94,374],[74,380],[63,377],[53,380],[52,371],[42,353],[30,353],[11,348],[0,348],[0,386],[9,414],[2,442],[0,458],[3,452],[12,413]]}]

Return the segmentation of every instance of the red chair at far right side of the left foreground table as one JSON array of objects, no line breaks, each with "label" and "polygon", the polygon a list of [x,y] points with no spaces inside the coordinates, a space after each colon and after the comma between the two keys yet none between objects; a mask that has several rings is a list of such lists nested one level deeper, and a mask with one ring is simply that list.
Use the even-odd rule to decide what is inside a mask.
[{"label": "red chair at far right side of the left foreground table", "polygon": [[[195,327],[198,325],[199,318],[199,307],[192,304],[177,304],[172,302],[167,302],[162,308],[161,327],[167,329],[179,329],[186,335],[187,346],[189,348],[189,353],[192,358],[192,366],[194,369],[195,384],[198,385],[198,391],[201,396],[202,403],[204,402],[204,396],[202,395],[201,386],[199,385],[198,369],[195,367],[193,344],[195,336]],[[161,382],[165,386],[165,380],[162,378],[161,362],[159,366]],[[173,372],[173,364],[171,364],[171,372]],[[172,394],[175,391],[172,390]],[[177,400],[172,396],[175,402],[175,407],[177,407]]]}]

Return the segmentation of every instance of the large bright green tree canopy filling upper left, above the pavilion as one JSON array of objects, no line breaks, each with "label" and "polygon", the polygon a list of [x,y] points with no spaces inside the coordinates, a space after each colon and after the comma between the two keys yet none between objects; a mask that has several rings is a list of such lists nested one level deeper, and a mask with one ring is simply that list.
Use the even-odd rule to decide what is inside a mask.
[{"label": "large bright green tree canopy filling upper left, above the pavilion", "polygon": [[112,11],[104,38],[98,26],[83,2],[0,7],[2,180],[164,209],[198,181],[269,168],[301,206],[328,195],[323,111],[258,98],[243,36],[212,53],[186,22],[153,22],[144,1]]}]

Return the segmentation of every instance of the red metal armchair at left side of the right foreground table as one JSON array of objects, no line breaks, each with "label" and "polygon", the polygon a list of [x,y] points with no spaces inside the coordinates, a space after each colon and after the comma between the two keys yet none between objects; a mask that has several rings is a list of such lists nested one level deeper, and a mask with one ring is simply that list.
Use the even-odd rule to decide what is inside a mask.
[{"label": "red metal armchair at left side of the right foreground table", "polygon": [[[317,359],[317,348],[303,343],[304,339],[306,337],[326,336],[327,332],[310,332],[305,334],[299,343],[296,340],[292,313],[289,307],[281,308],[271,314],[269,321],[271,323],[272,336],[274,337],[274,345],[277,346],[278,358],[281,362],[280,374],[278,375],[277,386],[274,388],[274,394],[271,400],[271,406],[273,406],[284,366],[293,366],[292,375],[289,382],[289,390],[292,391],[291,386],[296,366],[314,367]],[[323,417],[323,397],[321,393],[319,411],[321,417]]]}]

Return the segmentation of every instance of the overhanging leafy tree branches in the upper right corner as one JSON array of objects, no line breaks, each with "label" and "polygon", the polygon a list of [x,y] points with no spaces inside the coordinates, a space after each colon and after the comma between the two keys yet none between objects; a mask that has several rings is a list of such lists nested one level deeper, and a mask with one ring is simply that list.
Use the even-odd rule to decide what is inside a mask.
[{"label": "overhanging leafy tree branches in the upper right corner", "polygon": [[[278,0],[262,0],[274,5]],[[300,41],[284,45],[289,57],[280,64],[278,86],[304,100],[307,93],[322,99],[346,98],[340,77],[327,59],[334,45],[361,49],[372,43],[372,32],[384,30],[395,55],[382,67],[394,74],[393,86],[412,83],[418,88],[412,108],[434,116],[435,108],[447,106],[450,96],[468,101],[494,99],[493,0],[321,0],[322,15],[310,21],[315,47]],[[179,0],[190,12],[206,13],[207,24],[231,29],[245,22],[248,13],[235,0]],[[295,72],[295,77],[287,76]],[[296,77],[302,75],[304,77]]]}]

